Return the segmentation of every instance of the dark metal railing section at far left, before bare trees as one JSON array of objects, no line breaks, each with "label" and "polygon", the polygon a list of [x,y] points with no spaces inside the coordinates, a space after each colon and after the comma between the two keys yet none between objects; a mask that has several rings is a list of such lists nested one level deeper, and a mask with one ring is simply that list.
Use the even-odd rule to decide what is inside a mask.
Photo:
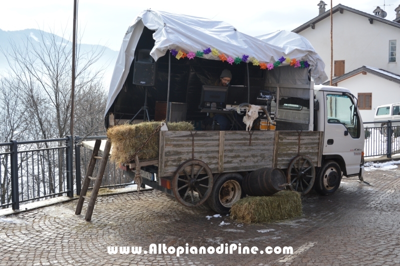
[{"label": "dark metal railing section at far left, before bare trees", "polygon": [[72,137],[0,143],[0,207],[73,196]]}]

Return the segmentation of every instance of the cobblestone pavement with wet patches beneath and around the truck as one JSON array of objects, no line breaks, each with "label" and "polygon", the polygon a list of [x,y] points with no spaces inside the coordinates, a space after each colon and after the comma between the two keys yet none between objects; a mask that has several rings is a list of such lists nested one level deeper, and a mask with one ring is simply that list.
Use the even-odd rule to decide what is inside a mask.
[{"label": "cobblestone pavement with wet patches beneath and around the truck", "polygon": [[[0,265],[395,265],[400,264],[400,170],[373,170],[372,186],[343,178],[330,196],[302,198],[303,215],[239,224],[156,190],[98,198],[92,221],[76,200],[0,217]],[[221,221],[226,224],[220,225]],[[292,246],[283,254],[108,254],[107,246]]]}]

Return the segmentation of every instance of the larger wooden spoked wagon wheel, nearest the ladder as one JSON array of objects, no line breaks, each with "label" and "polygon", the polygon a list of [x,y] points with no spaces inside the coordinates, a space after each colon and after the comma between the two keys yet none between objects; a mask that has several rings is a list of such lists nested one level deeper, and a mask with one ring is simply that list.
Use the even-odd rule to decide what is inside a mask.
[{"label": "larger wooden spoked wagon wheel, nearest the ladder", "polygon": [[201,205],[210,195],[211,169],[201,160],[190,159],[179,165],[172,178],[175,198],[185,206]]}]

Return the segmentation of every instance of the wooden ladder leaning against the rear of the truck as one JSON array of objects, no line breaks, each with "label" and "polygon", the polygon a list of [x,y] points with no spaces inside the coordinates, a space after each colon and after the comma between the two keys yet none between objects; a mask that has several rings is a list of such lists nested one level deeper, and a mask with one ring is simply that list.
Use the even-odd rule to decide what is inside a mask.
[{"label": "wooden ladder leaning against the rear of the truck", "polygon": [[[86,209],[86,215],[84,216],[85,220],[91,219],[91,214],[93,213],[94,203],[96,202],[98,190],[100,189],[101,181],[103,179],[105,166],[107,165],[108,155],[111,148],[111,142],[109,139],[105,142],[104,151],[102,152],[102,156],[98,156],[98,150],[100,149],[101,140],[96,139],[94,143],[93,152],[91,153],[91,158],[89,162],[89,167],[87,168],[86,176],[84,177],[84,182],[82,189],[79,194],[78,203],[76,204],[75,214],[78,215],[82,211],[83,201],[85,199],[89,200]],[[92,177],[94,166],[96,164],[96,160],[101,159],[100,166],[97,172],[96,177]],[[86,196],[87,188],[89,187],[90,180],[94,180],[93,189],[91,190],[90,197]]]}]

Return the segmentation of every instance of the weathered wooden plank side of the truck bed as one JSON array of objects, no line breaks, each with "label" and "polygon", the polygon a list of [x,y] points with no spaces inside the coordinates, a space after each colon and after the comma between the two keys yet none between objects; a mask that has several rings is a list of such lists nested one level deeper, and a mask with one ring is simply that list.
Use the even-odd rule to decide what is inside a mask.
[{"label": "weathered wooden plank side of the truck bed", "polygon": [[287,168],[297,154],[320,166],[320,131],[160,131],[158,176],[171,176],[184,161],[204,161],[213,173]]}]

